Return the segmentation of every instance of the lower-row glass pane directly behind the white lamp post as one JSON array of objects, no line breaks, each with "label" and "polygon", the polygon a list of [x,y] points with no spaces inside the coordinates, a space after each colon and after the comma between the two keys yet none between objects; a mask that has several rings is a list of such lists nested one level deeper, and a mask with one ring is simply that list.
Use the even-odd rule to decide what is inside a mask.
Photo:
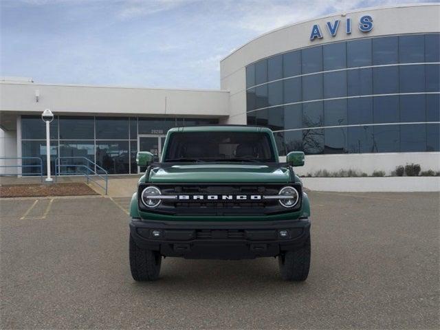
[{"label": "lower-row glass pane directly behind the white lamp post", "polygon": [[[41,118],[40,118],[41,120]],[[43,121],[43,120],[41,120]],[[21,164],[23,168],[21,173],[23,175],[40,175],[41,165],[43,165],[43,175],[47,175],[46,167],[46,142],[45,141],[22,141],[21,142],[21,157],[39,157],[39,159],[23,159]],[[50,141],[50,170],[52,175],[55,175],[55,159],[58,157],[58,141]],[[14,168],[5,168],[6,173],[12,173]]]}]

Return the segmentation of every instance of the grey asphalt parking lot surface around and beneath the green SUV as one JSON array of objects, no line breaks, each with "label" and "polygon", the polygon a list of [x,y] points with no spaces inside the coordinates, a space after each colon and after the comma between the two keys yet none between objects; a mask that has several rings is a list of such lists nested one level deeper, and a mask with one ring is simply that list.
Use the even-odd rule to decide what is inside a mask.
[{"label": "grey asphalt parking lot surface around and beneath the green SUV", "polygon": [[136,283],[128,198],[2,199],[1,329],[439,329],[439,194],[309,196],[305,283],[272,258]]}]

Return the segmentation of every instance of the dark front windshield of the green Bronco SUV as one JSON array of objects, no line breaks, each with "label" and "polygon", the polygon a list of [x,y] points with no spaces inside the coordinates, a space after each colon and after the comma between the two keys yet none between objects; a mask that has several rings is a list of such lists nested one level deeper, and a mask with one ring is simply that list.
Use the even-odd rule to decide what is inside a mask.
[{"label": "dark front windshield of the green Bronco SUV", "polygon": [[180,132],[170,135],[164,162],[275,162],[270,135]]}]

